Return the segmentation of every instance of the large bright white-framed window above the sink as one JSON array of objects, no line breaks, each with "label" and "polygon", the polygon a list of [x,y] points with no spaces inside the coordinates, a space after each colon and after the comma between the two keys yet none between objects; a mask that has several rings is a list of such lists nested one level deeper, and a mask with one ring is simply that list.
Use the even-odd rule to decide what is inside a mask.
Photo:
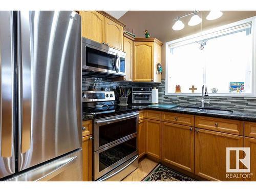
[{"label": "large bright white-framed window above the sink", "polygon": [[166,95],[254,96],[255,19],[166,42]]}]

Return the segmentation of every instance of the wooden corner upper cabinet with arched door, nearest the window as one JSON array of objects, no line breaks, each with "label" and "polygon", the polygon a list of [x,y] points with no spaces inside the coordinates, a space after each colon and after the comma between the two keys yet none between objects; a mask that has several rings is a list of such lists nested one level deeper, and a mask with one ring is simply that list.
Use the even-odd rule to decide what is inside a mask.
[{"label": "wooden corner upper cabinet with arched door, nearest the window", "polygon": [[161,63],[162,42],[156,38],[135,38],[133,46],[133,81],[161,82],[157,63]]}]

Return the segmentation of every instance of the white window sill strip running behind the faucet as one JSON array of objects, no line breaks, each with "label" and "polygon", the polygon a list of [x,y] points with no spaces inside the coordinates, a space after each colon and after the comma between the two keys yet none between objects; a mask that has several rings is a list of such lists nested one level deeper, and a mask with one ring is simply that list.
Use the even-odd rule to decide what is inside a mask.
[{"label": "white window sill strip running behind the faucet", "polygon": [[[197,97],[201,97],[202,94],[201,93],[166,93],[165,95],[168,95],[168,96],[197,96]],[[256,95],[254,94],[212,94],[212,93],[209,93],[208,94],[209,97],[255,97],[256,99]]]}]

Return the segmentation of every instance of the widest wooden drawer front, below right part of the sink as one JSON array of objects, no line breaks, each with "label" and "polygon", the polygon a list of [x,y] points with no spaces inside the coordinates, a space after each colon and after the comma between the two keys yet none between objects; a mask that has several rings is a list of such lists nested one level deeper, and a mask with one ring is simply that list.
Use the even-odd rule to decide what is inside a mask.
[{"label": "widest wooden drawer front, below right part of the sink", "polygon": [[244,124],[239,120],[196,116],[195,126],[206,130],[244,135]]}]

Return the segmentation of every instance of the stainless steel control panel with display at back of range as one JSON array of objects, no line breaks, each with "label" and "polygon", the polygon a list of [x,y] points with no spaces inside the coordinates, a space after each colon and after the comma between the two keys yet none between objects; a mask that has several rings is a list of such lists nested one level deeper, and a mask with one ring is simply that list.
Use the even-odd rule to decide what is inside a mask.
[{"label": "stainless steel control panel with display at back of range", "polygon": [[83,102],[94,102],[94,101],[114,101],[114,91],[83,91],[82,101]]}]

